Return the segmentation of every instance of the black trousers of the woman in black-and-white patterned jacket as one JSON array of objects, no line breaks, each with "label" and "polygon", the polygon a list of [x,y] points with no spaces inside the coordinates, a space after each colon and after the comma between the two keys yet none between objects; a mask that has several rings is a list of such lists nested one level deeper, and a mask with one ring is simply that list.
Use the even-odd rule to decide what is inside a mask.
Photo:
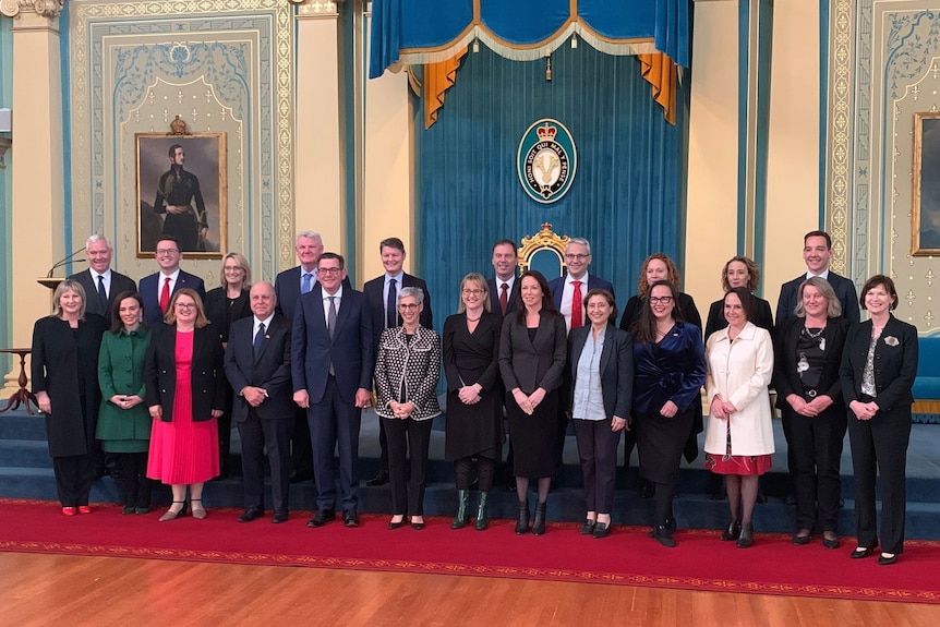
[{"label": "black trousers of the woman in black-and-white patterned jacket", "polygon": [[379,419],[388,439],[388,479],[391,484],[391,514],[424,515],[427,486],[427,448],[434,420]]}]

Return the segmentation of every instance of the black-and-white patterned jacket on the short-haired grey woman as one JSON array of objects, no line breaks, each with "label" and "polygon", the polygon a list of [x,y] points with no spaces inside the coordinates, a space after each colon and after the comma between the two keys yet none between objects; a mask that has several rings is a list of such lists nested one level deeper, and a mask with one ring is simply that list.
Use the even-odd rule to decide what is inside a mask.
[{"label": "black-and-white patterned jacket on the short-haired grey woman", "polygon": [[429,420],[441,413],[437,405],[437,381],[441,378],[441,337],[419,326],[411,340],[405,327],[387,328],[378,339],[375,360],[375,413],[395,418],[389,403],[405,400],[414,403],[412,420]]}]

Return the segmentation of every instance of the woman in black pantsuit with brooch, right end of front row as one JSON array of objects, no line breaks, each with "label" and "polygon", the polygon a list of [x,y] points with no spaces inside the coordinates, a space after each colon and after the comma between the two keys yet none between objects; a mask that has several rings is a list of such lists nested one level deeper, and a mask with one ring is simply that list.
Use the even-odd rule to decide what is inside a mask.
[{"label": "woman in black pantsuit with brooch, right end of front row", "polygon": [[891,311],[897,306],[894,281],[868,279],[859,298],[870,318],[853,325],[842,355],[842,394],[851,411],[848,442],[855,473],[858,545],[853,558],[868,557],[878,546],[875,478],[881,472],[881,556],[887,566],[904,552],[907,443],[917,376],[917,329]]}]

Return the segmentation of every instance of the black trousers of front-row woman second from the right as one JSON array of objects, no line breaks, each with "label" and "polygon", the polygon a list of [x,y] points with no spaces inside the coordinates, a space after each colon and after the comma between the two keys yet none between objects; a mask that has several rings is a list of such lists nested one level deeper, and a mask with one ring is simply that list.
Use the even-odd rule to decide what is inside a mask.
[{"label": "black trousers of front-row woman second from the right", "polygon": [[783,410],[783,424],[790,432],[794,459],[791,477],[797,529],[812,530],[819,522],[822,531],[836,531],[842,493],[839,467],[846,422],[845,407],[841,405],[830,407],[816,418]]}]

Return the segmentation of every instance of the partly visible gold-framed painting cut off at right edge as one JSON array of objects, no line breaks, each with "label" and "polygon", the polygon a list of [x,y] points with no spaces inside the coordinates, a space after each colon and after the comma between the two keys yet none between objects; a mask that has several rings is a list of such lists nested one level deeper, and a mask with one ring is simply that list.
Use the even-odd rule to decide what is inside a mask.
[{"label": "partly visible gold-framed painting cut off at right edge", "polygon": [[911,254],[940,255],[940,112],[914,113]]}]

